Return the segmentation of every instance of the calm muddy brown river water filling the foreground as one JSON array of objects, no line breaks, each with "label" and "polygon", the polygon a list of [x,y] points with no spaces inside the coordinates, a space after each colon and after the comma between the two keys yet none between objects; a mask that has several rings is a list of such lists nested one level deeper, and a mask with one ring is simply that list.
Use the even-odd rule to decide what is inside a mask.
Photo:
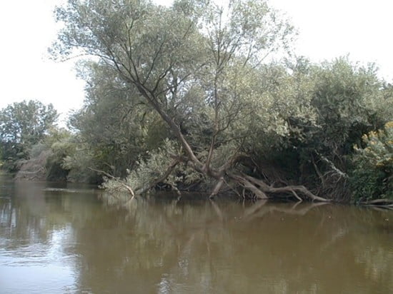
[{"label": "calm muddy brown river water filling the foreground", "polygon": [[393,212],[0,177],[0,293],[393,293]]}]

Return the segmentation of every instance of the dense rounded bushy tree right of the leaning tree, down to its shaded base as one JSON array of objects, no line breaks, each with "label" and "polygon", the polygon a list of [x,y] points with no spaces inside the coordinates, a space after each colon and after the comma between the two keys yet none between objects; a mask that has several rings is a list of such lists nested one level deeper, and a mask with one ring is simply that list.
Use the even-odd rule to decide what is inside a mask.
[{"label": "dense rounded bushy tree right of the leaning tree, down to its shaded base", "polygon": [[393,96],[373,65],[359,66],[341,58],[323,64],[300,59],[287,66],[288,77],[276,94],[288,101],[293,97],[291,112],[284,112],[288,102],[277,103],[277,108],[284,106],[279,116],[287,123],[287,135],[275,143],[269,140],[277,148],[259,149],[265,151],[255,161],[269,158],[290,171],[287,180],[307,183],[329,198],[348,198],[352,146],[360,143],[363,133],[392,119]]}]

